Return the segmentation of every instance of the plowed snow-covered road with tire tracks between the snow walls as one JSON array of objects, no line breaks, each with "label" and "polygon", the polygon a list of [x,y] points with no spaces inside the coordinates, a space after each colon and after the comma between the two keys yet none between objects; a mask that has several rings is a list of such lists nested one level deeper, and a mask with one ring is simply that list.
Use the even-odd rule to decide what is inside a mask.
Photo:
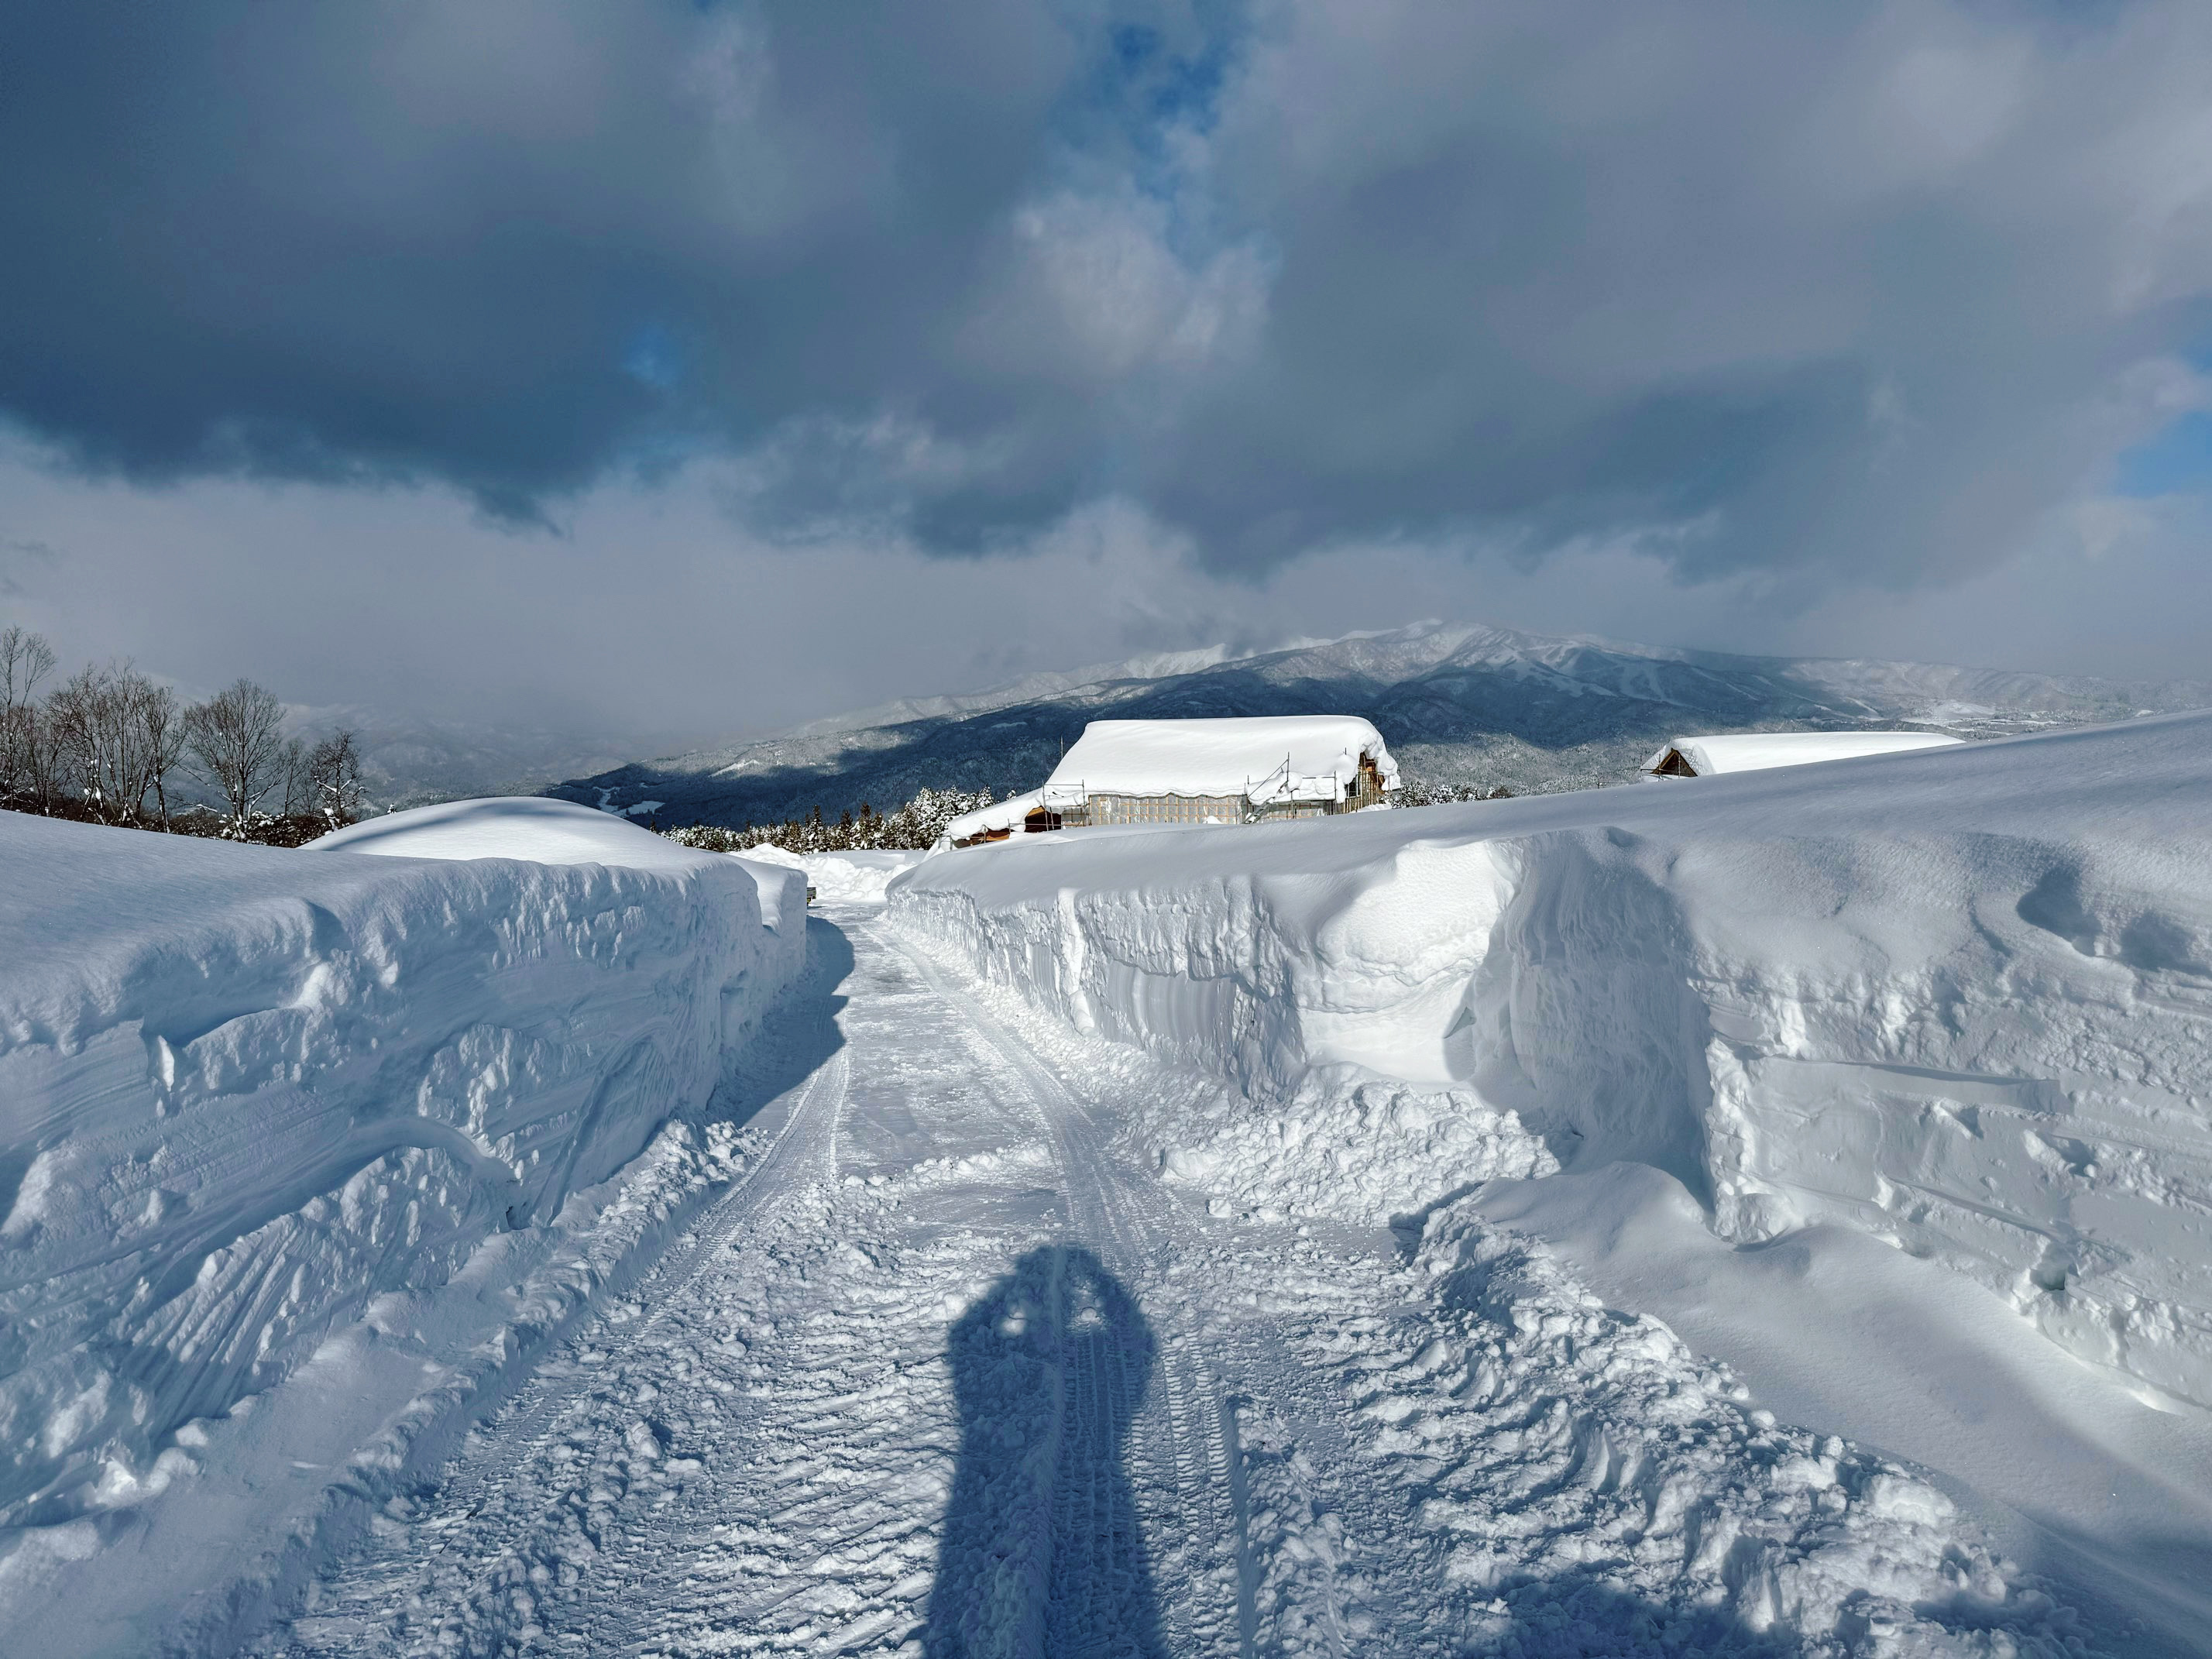
[{"label": "plowed snow-covered road with tire tracks between the snow walls", "polygon": [[2075,1650],[1933,1491],[1464,1206],[1210,1217],[1115,1135],[1172,1073],[810,929],[745,1172],[252,1652]]}]

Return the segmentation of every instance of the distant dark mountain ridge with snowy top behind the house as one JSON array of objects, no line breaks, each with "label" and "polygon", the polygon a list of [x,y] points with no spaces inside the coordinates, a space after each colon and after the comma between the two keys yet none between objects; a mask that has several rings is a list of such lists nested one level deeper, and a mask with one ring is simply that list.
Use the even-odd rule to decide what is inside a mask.
[{"label": "distant dark mountain ridge with snowy top behind the house", "polygon": [[925,785],[1033,787],[1093,719],[1223,714],[1365,714],[1413,779],[1535,794],[1621,781],[1681,732],[1922,726],[2000,737],[2203,706],[2203,681],[1736,657],[1422,622],[1252,655],[1214,646],[1024,675],[637,761],[546,794],[650,810],[664,823],[739,827],[812,807],[836,816],[863,801],[898,805]]}]

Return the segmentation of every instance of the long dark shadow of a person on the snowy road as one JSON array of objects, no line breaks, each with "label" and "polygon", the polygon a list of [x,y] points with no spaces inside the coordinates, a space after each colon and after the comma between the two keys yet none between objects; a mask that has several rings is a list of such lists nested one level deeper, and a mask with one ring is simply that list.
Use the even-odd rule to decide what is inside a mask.
[{"label": "long dark shadow of a person on the snowy road", "polygon": [[960,1462],[922,1652],[1166,1655],[1121,1469],[1152,1374],[1135,1298],[1088,1250],[1031,1250],[947,1356]]}]

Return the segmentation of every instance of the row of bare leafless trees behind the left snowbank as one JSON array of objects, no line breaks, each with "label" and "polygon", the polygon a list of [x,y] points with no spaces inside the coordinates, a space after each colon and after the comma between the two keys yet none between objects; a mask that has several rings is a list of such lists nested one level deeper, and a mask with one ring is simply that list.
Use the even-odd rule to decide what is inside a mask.
[{"label": "row of bare leafless trees behind the left snowbank", "polygon": [[[276,695],[241,679],[179,703],[131,664],[80,668],[40,697],[53,646],[0,628],[0,805],[139,830],[299,845],[363,810],[361,745],[283,734]],[[177,794],[208,794],[219,810]]]}]

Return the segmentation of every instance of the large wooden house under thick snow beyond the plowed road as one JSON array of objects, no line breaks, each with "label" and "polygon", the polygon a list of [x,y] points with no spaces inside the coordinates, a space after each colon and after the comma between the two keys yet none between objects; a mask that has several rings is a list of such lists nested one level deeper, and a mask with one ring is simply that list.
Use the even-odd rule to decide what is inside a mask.
[{"label": "large wooden house under thick snow beyond the plowed road", "polygon": [[1265,823],[1385,803],[1398,763],[1354,714],[1091,721],[1053,776],[945,825],[956,847],[1113,823]]}]

